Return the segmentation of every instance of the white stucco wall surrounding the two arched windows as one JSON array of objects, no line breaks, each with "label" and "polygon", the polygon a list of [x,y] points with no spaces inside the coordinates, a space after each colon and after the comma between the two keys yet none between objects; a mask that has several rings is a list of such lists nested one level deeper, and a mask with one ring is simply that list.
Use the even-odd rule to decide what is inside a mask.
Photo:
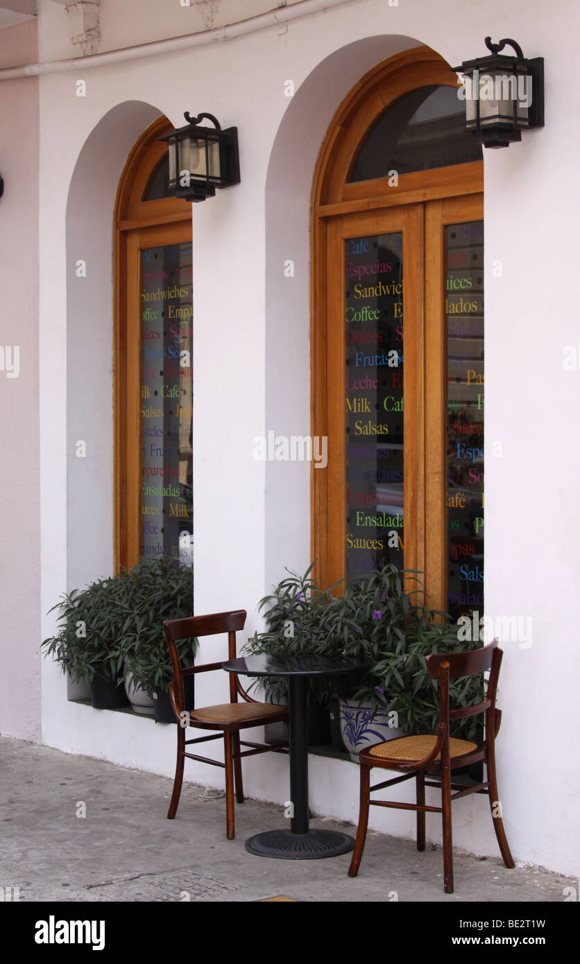
[{"label": "white stucco wall surrounding the two arched windows", "polygon": [[[161,23],[160,6],[152,15]],[[90,574],[86,560],[71,565],[68,559],[77,503],[69,493],[68,518],[64,479],[72,437],[105,438],[111,418],[110,397],[70,415],[69,186],[99,121],[117,105],[140,101],[176,125],[184,110],[210,110],[239,131],[241,184],[192,210],[195,610],[246,607],[250,634],[259,627],[255,604],[271,582],[285,566],[305,569],[310,561],[308,467],[266,468],[253,461],[251,441],[268,428],[308,431],[308,204],[318,147],[334,110],[373,64],[407,45],[424,42],[456,64],[481,55],[491,33],[494,39],[515,37],[527,56],[544,56],[544,130],[508,150],[485,151],[485,432],[488,446],[503,443],[502,457],[487,458],[485,466],[485,605],[489,613],[534,617],[533,645],[506,646],[500,694],[499,781],[511,849],[516,859],[567,873],[578,871],[570,841],[580,837],[579,770],[569,763],[575,758],[578,663],[573,601],[580,567],[580,376],[562,367],[563,347],[578,342],[572,234],[578,120],[570,111],[578,18],[571,0],[558,6],[556,18],[538,0],[519,0],[509,9],[500,0],[460,8],[452,0],[404,0],[398,8],[354,0],[285,32],[271,29],[171,57],[48,75],[40,85],[41,612],[68,584]],[[52,52],[49,18],[45,24],[41,19],[42,55],[62,56]],[[165,36],[161,29],[158,36]],[[74,93],[78,77],[87,80],[84,98]],[[284,96],[287,79],[295,86],[293,101]],[[84,217],[100,225],[100,233],[87,232],[84,246],[88,263],[103,272],[103,290],[110,290],[110,275],[97,206],[109,205],[112,217],[114,179],[128,143],[127,132],[103,148],[98,176],[108,184],[83,202]],[[287,257],[295,263],[291,280],[283,276]],[[494,260],[502,262],[501,278],[491,277]],[[79,318],[78,294],[75,299]],[[88,358],[98,337],[103,366],[103,332],[110,324],[103,308],[103,331],[87,331]],[[77,335],[70,336],[72,344]],[[102,469],[110,452],[101,454]],[[88,505],[92,499],[101,504],[106,485],[102,472],[87,472]],[[96,570],[107,558],[107,538],[103,526]],[[41,638],[53,626],[52,616],[42,617]],[[223,680],[203,683],[200,700],[225,696]],[[64,679],[44,662],[44,742],[171,774],[173,728],[70,704],[65,694]],[[283,759],[259,757],[245,766],[250,794],[288,799]],[[207,783],[221,779],[191,762],[187,775]],[[356,818],[357,781],[354,765],[311,758],[313,809]],[[414,817],[373,813],[372,824],[410,835]],[[428,833],[439,839],[436,817],[428,819]],[[479,853],[497,852],[483,797],[456,804],[454,841]]]}]

